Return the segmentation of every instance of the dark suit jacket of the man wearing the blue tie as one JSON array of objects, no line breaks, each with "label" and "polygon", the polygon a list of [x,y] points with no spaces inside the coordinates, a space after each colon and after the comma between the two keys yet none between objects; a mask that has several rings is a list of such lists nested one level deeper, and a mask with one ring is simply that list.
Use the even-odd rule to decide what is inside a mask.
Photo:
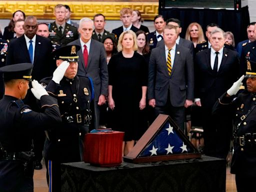
[{"label": "dark suit jacket of the man wearing the blue tie", "polygon": [[[46,76],[52,75],[56,64],[52,60],[51,50],[51,41],[36,34],[32,79],[39,81]],[[22,62],[30,62],[24,35],[9,42],[6,57],[6,65]]]}]

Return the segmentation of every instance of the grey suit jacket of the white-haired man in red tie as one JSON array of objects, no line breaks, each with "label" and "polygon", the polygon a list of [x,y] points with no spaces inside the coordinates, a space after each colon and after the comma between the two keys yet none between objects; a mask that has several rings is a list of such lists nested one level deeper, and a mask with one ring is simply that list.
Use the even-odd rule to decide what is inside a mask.
[{"label": "grey suit jacket of the white-haired man in red tie", "polygon": [[[68,44],[81,46],[80,39]],[[107,95],[108,88],[108,72],[104,45],[94,39],[91,39],[90,50],[88,53],[88,65],[86,68],[84,66],[82,48],[78,50],[78,56],[79,61],[77,74],[92,78],[95,101],[97,103],[100,94]]]}]

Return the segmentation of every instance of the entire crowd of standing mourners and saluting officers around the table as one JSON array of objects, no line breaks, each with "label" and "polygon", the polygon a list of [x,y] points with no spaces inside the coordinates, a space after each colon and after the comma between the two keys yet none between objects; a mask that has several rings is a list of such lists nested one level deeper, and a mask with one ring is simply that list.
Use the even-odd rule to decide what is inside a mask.
[{"label": "entire crowd of standing mourners and saluting officers around the table", "polygon": [[[33,169],[42,168],[43,157],[49,191],[60,191],[60,163],[83,160],[85,133],[99,127],[123,131],[124,156],[160,113],[187,134],[192,105],[201,111],[200,122],[191,124],[203,128],[203,153],[226,158],[233,132],[237,191],[251,187],[255,22],[247,27],[248,39],[235,46],[233,33],[216,23],[207,25],[204,36],[192,22],[182,38],[177,18],[156,15],[150,32],[137,9],[122,8],[122,25],[111,32],[101,13],[79,24],[70,15],[68,5],[57,4],[55,20],[38,23],[17,10],[0,34],[1,189],[32,191]],[[24,160],[23,152],[31,158]],[[10,185],[13,175],[19,177]]]}]

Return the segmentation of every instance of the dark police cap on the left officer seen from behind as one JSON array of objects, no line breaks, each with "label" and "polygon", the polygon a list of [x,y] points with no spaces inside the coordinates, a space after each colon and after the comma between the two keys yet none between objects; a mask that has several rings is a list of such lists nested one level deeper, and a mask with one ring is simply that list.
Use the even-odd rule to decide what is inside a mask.
[{"label": "dark police cap on the left officer seen from behind", "polygon": [[0,67],[0,72],[3,73],[3,80],[10,79],[26,79],[31,81],[32,63],[11,64]]}]

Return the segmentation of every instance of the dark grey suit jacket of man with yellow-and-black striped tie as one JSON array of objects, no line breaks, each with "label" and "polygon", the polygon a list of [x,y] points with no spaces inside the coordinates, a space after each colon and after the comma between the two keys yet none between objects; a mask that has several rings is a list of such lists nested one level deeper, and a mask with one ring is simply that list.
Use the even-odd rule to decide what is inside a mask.
[{"label": "dark grey suit jacket of man with yellow-and-black striped tie", "polygon": [[172,106],[184,106],[185,99],[193,99],[194,72],[190,50],[176,44],[170,76],[166,66],[164,44],[152,49],[148,69],[148,99],[164,106],[169,90]]}]

